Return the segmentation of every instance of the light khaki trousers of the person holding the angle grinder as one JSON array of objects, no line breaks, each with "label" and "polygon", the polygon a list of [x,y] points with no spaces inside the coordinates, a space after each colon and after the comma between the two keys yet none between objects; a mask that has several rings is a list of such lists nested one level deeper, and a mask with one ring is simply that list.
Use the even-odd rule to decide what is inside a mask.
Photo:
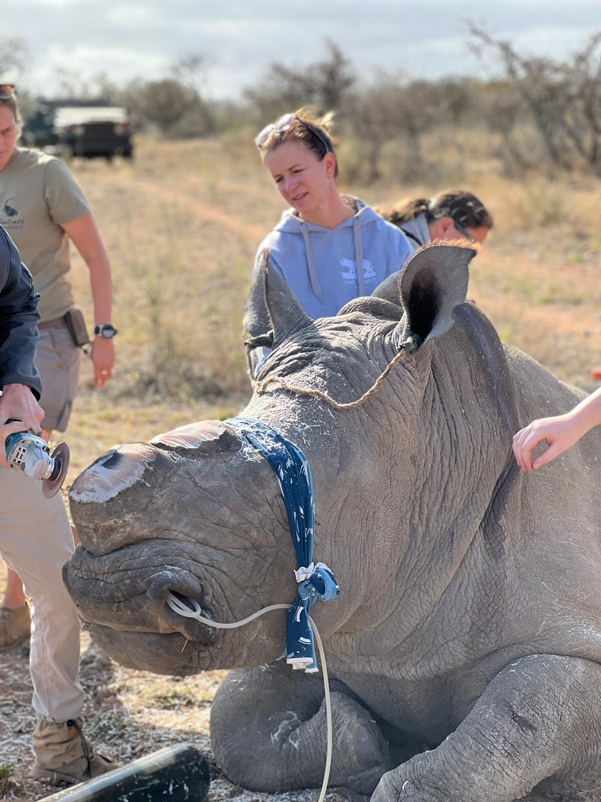
[{"label": "light khaki trousers of the person holding the angle grinder", "polygon": [[79,619],[63,585],[63,565],[74,548],[60,492],[45,499],[42,482],[0,467],[0,553],[34,602],[33,705],[50,723],[77,719],[83,707]]}]

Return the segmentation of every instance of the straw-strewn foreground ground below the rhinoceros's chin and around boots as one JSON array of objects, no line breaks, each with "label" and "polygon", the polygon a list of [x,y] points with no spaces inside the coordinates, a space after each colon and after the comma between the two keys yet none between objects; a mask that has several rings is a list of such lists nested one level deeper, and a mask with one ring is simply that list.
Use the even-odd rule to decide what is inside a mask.
[{"label": "straw-strewn foreground ground below the rhinoceros's chin and around boots", "polygon": [[[0,563],[0,587],[5,581]],[[125,763],[175,743],[192,743],[211,766],[208,802],[314,802],[317,792],[268,796],[232,785],[216,767],[209,739],[209,711],[224,671],[173,678],[118,666],[95,648],[89,632],[81,638],[80,678],[86,691],[86,734],[95,747]],[[57,791],[28,776],[32,761],[29,643],[0,653],[0,802],[41,800]],[[10,767],[2,774],[2,767]],[[342,802],[341,793],[329,802]]]}]

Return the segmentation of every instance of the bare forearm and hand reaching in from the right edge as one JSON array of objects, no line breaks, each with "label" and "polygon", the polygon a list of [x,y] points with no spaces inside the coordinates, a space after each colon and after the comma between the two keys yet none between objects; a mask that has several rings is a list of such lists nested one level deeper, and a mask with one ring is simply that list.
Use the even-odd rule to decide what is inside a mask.
[{"label": "bare forearm and hand reaching in from the right edge", "polygon": [[[601,387],[565,415],[534,420],[514,436],[514,454],[522,471],[533,471],[555,460],[601,423]],[[543,440],[549,448],[534,463],[532,452]]]}]

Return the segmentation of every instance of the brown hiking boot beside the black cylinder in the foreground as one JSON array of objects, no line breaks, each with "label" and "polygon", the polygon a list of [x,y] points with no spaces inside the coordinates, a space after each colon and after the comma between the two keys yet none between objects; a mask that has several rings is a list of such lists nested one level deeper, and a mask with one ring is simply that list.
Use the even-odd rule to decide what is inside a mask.
[{"label": "brown hiking boot beside the black cylinder in the foreground", "polygon": [[83,735],[82,725],[82,719],[50,723],[38,717],[33,735],[32,777],[48,780],[50,785],[76,785],[119,768],[113,760],[95,754]]}]

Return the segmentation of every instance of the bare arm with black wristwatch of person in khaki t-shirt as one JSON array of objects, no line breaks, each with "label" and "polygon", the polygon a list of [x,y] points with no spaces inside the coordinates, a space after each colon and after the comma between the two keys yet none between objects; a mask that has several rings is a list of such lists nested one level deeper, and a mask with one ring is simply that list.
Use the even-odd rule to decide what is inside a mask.
[{"label": "bare arm with black wristwatch of person in khaki t-shirt", "polygon": [[[77,220],[63,223],[62,228],[75,243],[83,261],[90,269],[92,300],[94,302],[94,320],[96,326],[111,322],[112,283],[111,265],[107,252],[96,228],[91,214],[84,214]],[[95,387],[104,387],[111,379],[115,363],[113,341],[103,337],[95,337],[92,342],[92,362],[94,363]]]}]

